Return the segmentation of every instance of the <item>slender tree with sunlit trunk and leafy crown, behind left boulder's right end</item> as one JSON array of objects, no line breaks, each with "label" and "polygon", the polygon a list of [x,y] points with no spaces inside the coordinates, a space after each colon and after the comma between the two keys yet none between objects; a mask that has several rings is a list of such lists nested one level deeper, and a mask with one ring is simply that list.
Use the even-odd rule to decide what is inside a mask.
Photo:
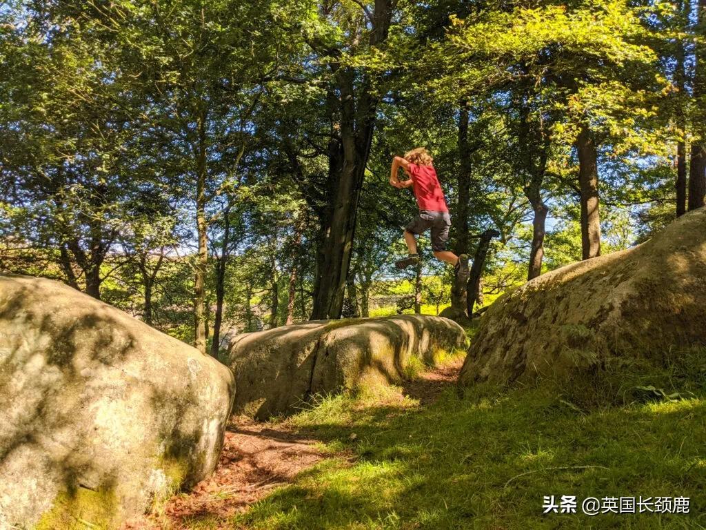
[{"label": "slender tree with sunlit trunk and leafy crown, behind left boulder's right end", "polygon": [[264,85],[276,82],[283,66],[282,25],[258,2],[232,0],[181,0],[168,10],[122,0],[107,8],[89,4],[81,16],[97,20],[105,38],[119,44],[121,65],[143,97],[145,135],[160,146],[174,187],[192,201],[194,346],[205,353],[210,203],[239,185]]}]

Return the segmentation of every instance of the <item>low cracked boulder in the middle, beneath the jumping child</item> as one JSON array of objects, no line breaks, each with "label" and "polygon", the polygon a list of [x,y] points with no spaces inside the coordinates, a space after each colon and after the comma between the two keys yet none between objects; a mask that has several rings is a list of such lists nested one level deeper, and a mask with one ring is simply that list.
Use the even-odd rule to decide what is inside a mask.
[{"label": "low cracked boulder in the middle, beneath the jumping child", "polygon": [[441,317],[400,315],[319,321],[234,337],[234,412],[258,419],[291,413],[313,394],[400,382],[415,360],[465,345],[462,327]]}]

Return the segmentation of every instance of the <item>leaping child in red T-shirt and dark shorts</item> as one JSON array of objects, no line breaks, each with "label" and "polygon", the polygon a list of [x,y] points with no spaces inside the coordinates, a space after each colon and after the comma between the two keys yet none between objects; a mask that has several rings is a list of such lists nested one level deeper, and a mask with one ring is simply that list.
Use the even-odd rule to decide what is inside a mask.
[{"label": "leaping child in red T-shirt and dark shorts", "polygon": [[[467,254],[457,256],[445,249],[451,217],[448,213],[448,206],[446,206],[446,199],[441,191],[441,185],[436,177],[436,170],[431,165],[432,162],[433,158],[423,147],[412,149],[412,151],[405,153],[404,157],[395,156],[393,160],[390,169],[390,184],[396,188],[412,188],[419,205],[419,214],[405,229],[405,242],[407,249],[409,249],[409,257],[400,259],[395,265],[398,269],[406,269],[410,265],[419,263],[417,239],[414,236],[431,228],[431,249],[434,257],[452,264],[455,267],[457,280],[465,281],[468,278]],[[409,176],[408,180],[400,181],[397,178],[397,170],[400,167]]]}]

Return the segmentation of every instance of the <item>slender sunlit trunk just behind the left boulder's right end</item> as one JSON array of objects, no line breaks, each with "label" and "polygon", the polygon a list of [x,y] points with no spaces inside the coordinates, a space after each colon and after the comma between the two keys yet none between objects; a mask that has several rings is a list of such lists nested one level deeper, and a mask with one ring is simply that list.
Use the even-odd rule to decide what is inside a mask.
[{"label": "slender sunlit trunk just behind the left boulder's right end", "polygon": [[206,223],[206,130],[205,113],[198,119],[196,153],[196,232],[198,254],[193,281],[193,346],[206,353],[205,279],[208,266],[208,226]]}]

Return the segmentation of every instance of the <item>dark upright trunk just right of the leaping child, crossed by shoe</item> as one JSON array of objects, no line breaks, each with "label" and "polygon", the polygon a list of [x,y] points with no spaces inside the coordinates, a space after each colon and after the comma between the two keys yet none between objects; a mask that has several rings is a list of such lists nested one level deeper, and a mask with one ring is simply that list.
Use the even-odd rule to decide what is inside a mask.
[{"label": "dark upright trunk just right of the leaping child, crossed by shoe", "polygon": [[[455,251],[457,255],[468,254],[468,209],[471,187],[471,151],[468,144],[468,103],[461,102],[458,115],[458,158],[460,167],[457,187],[458,201],[453,220],[456,232]],[[466,286],[459,282],[451,284],[451,307],[457,314],[466,310]]]}]

